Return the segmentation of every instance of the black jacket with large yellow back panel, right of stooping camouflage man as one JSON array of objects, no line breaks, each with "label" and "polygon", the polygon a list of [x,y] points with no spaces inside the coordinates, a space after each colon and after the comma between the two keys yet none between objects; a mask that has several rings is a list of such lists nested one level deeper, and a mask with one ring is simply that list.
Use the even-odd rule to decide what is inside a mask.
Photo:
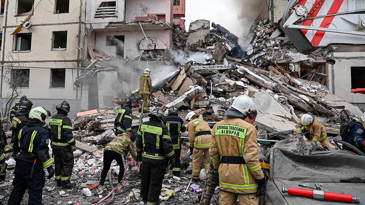
[{"label": "black jacket with large yellow back panel, right of stooping camouflage man", "polygon": [[142,156],[142,162],[154,164],[165,163],[175,158],[170,133],[161,121],[150,118],[141,125],[136,138],[137,158]]}]

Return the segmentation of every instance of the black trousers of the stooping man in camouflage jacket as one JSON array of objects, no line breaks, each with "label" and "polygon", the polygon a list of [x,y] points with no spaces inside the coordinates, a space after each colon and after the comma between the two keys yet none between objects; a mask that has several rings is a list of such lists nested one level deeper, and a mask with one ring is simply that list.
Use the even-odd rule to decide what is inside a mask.
[{"label": "black trousers of the stooping man in camouflage jacket", "polygon": [[105,150],[104,151],[104,167],[103,167],[103,170],[101,170],[101,174],[100,174],[100,185],[102,185],[102,186],[104,186],[105,178],[107,178],[108,172],[110,170],[110,165],[114,159],[115,159],[116,163],[118,163],[118,165],[119,165],[118,182],[121,183],[123,181],[124,165],[123,165],[122,155],[116,151]]}]

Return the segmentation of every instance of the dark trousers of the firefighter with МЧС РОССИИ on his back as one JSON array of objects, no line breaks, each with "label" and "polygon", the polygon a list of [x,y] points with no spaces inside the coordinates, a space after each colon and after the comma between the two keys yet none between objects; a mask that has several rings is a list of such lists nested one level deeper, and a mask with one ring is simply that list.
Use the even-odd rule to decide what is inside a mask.
[{"label": "dark trousers of the firefighter with \u041c\u0427\u0421 \u0420\u041e\u0421\u0421\u0418\u0418 on his back", "polygon": [[52,150],[55,178],[56,181],[61,181],[62,184],[69,183],[72,175],[74,157],[73,152],[68,148]]}]

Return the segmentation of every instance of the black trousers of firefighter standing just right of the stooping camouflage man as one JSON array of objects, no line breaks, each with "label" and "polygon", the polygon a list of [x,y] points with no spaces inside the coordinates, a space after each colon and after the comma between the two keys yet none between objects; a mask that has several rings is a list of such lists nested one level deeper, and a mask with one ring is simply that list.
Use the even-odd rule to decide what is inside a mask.
[{"label": "black trousers of firefighter standing just right of the stooping camouflage man", "polygon": [[142,177],[141,198],[147,204],[156,204],[160,197],[162,182],[164,182],[165,178],[165,163],[142,162],[139,170]]}]

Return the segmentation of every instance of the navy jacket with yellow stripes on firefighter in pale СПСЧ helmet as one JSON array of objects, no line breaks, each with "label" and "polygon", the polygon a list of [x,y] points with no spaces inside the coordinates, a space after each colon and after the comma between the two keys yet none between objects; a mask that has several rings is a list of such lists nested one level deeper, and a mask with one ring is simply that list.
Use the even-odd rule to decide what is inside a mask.
[{"label": "navy jacket with yellow stripes on firefighter in pale \u0421\u041f\u0421\u0427 helmet", "polygon": [[49,156],[49,138],[48,132],[44,127],[45,123],[41,121],[30,120],[24,126],[15,138],[14,144],[19,147],[19,154],[15,157],[27,162],[43,163],[45,168],[52,166],[53,162]]}]

